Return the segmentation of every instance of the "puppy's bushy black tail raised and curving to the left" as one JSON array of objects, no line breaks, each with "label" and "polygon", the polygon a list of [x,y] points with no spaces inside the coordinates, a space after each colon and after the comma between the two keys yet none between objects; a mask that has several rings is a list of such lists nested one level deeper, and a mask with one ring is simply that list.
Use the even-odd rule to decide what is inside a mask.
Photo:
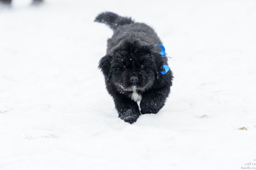
[{"label": "puppy's bushy black tail raised and curving to the left", "polygon": [[121,17],[113,12],[102,12],[94,20],[94,22],[105,23],[112,30],[116,30],[121,25],[134,23],[131,18]]}]

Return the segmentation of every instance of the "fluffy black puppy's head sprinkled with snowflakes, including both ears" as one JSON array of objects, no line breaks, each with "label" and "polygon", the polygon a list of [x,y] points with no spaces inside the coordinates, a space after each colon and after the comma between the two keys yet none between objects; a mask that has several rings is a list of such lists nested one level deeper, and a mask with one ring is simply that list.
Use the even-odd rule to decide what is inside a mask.
[{"label": "fluffy black puppy's head sprinkled with snowflakes, including both ears", "polygon": [[158,79],[164,60],[154,45],[135,39],[121,41],[101,58],[99,68],[121,90],[149,89]]}]

